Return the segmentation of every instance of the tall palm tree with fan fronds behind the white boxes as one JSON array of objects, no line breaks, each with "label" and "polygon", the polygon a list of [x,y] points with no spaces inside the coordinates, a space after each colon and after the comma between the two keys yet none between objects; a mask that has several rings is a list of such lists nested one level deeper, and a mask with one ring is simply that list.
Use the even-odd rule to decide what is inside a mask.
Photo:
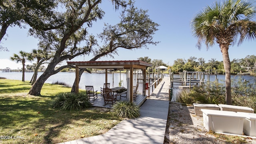
[{"label": "tall palm tree with fan fronds behind the white boxes", "polygon": [[213,46],[216,42],[222,52],[223,65],[225,69],[226,104],[232,104],[230,84],[230,59],[228,48],[231,44],[241,44],[244,39],[256,38],[256,8],[251,1],[227,0],[215,2],[198,12],[192,19],[191,28],[193,35],[198,38],[198,48],[201,42],[206,48]]}]

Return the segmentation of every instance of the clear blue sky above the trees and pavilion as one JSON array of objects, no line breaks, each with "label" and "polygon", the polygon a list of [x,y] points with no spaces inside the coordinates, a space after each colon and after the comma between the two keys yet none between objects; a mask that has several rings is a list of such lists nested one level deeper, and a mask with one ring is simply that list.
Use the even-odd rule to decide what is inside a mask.
[{"label": "clear blue sky above the trees and pavilion", "polygon": [[[140,48],[134,50],[125,50],[118,48],[118,55],[114,55],[114,59],[103,57],[102,60],[137,60],[140,57],[148,56],[151,60],[162,60],[167,65],[174,64],[174,60],[182,58],[187,60],[194,56],[196,58],[204,58],[206,62],[212,58],[222,61],[222,53],[218,44],[206,50],[206,46],[202,45],[198,50],[196,47],[197,39],[192,35],[190,22],[194,16],[203,10],[204,7],[210,6],[215,0],[136,0],[135,6],[148,10],[148,15],[152,21],[160,24],[158,31],[154,34],[154,41],[158,41],[155,45],[148,45],[148,49]],[[120,19],[121,8],[114,10],[112,2],[102,0],[100,7],[105,11],[104,18],[97,20],[89,29],[91,34],[99,34],[102,32],[104,22],[108,24],[117,24]],[[0,51],[0,68],[10,67],[11,69],[22,68],[22,64],[10,61],[13,54],[18,54],[20,50],[31,52],[37,48],[38,40],[32,36],[28,36],[28,28],[9,27],[7,34],[2,40],[1,45],[8,48],[9,52]],[[245,58],[247,55],[255,55],[256,41],[244,41],[240,46],[234,45],[229,48],[230,61],[233,59]],[[92,58],[89,56],[78,56],[70,61],[88,61]],[[31,64],[32,62],[26,62]],[[62,62],[66,64],[66,62]]]}]

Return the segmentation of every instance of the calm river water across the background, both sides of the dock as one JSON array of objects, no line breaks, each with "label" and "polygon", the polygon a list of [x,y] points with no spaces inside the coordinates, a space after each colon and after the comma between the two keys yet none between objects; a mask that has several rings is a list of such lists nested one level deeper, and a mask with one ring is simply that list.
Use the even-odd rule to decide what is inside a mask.
[{"label": "calm river water across the background, both sides of the dock", "polygon": [[[38,77],[42,74],[42,72],[38,72]],[[26,72],[25,73],[25,80],[30,81],[30,79],[33,76],[33,72]],[[166,76],[168,76],[166,74]],[[22,80],[22,72],[0,72],[0,77],[4,77],[7,79],[13,79],[13,80]],[[46,83],[52,83],[52,82],[65,82],[69,86],[72,86],[75,80],[75,72],[58,72],[57,74],[54,74],[50,76],[46,80]],[[179,74],[174,74],[174,77],[179,77]],[[134,76],[134,84],[136,85],[137,76]],[[224,83],[225,75],[217,75],[218,82]],[[231,78],[238,78],[237,75],[231,75]],[[242,76],[246,81],[249,82],[255,82],[255,77],[253,76]],[[122,80],[122,86],[127,88],[127,79],[125,73],[114,73],[114,74],[108,74],[108,82],[110,82],[110,87],[116,87],[118,86],[120,80]],[[210,75],[210,81],[215,80],[215,75]],[[205,82],[207,81],[207,75],[205,75]],[[105,74],[89,74],[89,73],[83,73],[81,76],[81,80],[79,83],[79,87],[82,89],[85,89],[86,85],[92,85],[94,86],[94,90],[100,90],[100,87],[103,87],[103,84],[105,82]],[[142,80],[139,81],[142,83]],[[152,81],[150,81],[152,83]],[[176,95],[176,93],[180,90],[178,86],[180,83],[174,83],[173,93]],[[188,84],[187,84],[188,85]],[[142,94],[142,84],[139,84],[138,91],[140,94]],[[151,91],[151,90],[150,90]],[[148,92],[146,91],[146,94]],[[174,99],[173,99],[174,100]]]}]

